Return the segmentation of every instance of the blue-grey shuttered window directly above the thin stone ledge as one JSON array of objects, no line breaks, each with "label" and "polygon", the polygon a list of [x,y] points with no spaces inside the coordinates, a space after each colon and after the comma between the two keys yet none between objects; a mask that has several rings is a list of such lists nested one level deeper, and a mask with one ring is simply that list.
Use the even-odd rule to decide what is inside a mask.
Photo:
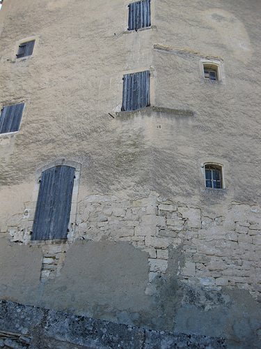
[{"label": "blue-grey shuttered window directly above the thin stone ledge", "polygon": [[150,105],[150,71],[123,75],[122,110],[137,110]]}]

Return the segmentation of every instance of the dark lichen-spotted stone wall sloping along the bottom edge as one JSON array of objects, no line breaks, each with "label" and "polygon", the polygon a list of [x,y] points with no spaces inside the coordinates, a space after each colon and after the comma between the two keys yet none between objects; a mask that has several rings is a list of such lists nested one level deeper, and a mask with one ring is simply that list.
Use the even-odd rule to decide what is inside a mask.
[{"label": "dark lichen-spotted stone wall sloping along the bottom edge", "polygon": [[217,337],[141,329],[6,300],[0,300],[1,332],[14,334],[8,338],[14,346],[25,338],[29,349],[58,349],[61,343],[67,349],[226,348],[225,339]]}]

